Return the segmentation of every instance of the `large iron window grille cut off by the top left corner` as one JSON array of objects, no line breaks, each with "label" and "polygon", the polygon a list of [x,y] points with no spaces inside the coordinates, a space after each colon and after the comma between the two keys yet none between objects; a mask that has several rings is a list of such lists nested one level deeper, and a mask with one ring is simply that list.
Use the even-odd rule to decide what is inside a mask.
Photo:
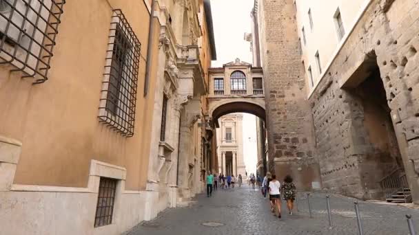
[{"label": "large iron window grille cut off by the top left corner", "polygon": [[22,78],[48,80],[52,50],[65,0],[0,0],[0,64]]}]

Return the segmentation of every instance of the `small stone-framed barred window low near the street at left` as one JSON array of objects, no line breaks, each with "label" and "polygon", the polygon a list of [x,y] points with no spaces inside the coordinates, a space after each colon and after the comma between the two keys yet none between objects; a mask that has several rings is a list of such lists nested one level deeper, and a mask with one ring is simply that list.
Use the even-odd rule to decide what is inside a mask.
[{"label": "small stone-framed barred window low near the street at left", "polygon": [[101,177],[96,204],[96,216],[94,217],[94,227],[112,224],[116,183],[118,183],[118,180],[116,179]]}]

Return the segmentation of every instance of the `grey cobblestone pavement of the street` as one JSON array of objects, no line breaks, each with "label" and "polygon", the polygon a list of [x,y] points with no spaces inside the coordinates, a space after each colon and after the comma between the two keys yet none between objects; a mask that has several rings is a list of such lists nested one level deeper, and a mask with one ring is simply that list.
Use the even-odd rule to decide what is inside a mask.
[{"label": "grey cobblestone pavement of the street", "polygon": [[[153,221],[134,227],[127,234],[358,234],[354,199],[331,195],[332,227],[329,228],[325,193],[311,194],[312,218],[309,217],[306,194],[298,194],[298,212],[286,213],[283,219],[272,216],[267,199],[251,188],[218,190],[207,198],[196,197],[196,203],[187,208],[165,210]],[[398,205],[360,202],[364,234],[409,234],[405,214],[412,214],[419,231],[419,210]],[[203,223],[223,223],[207,227]]]}]

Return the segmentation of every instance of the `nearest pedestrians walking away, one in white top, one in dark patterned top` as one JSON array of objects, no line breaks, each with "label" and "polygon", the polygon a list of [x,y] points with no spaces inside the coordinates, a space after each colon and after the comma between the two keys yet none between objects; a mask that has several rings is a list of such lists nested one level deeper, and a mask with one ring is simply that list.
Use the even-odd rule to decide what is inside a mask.
[{"label": "nearest pedestrians walking away, one in white top, one in dark patterned top", "polygon": [[276,175],[272,175],[270,172],[267,172],[265,178],[263,178],[262,187],[264,197],[266,197],[269,193],[271,212],[274,213],[275,216],[281,218],[281,195],[282,198],[287,201],[288,214],[292,214],[294,201],[296,199],[296,186],[294,185],[293,179],[290,175],[285,176],[281,185],[278,179],[276,179]]}]

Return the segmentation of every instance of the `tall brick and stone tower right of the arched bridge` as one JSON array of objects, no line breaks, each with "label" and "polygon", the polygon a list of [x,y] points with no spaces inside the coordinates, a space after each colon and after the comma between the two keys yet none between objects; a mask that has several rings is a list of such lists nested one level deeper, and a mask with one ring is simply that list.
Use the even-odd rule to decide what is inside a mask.
[{"label": "tall brick and stone tower right of the arched bridge", "polygon": [[258,4],[269,170],[280,180],[291,174],[299,188],[311,189],[313,182],[320,182],[320,174],[313,154],[314,131],[305,95],[294,1],[265,0]]}]

